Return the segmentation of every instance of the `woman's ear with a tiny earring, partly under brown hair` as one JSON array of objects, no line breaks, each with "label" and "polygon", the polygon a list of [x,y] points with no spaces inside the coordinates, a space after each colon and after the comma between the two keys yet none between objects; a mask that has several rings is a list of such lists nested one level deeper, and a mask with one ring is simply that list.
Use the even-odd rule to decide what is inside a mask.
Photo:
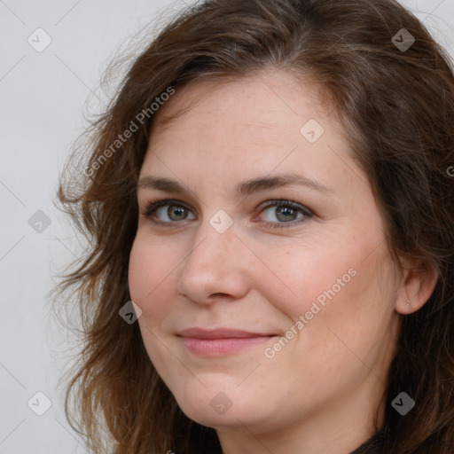
[{"label": "woman's ear with a tiny earring, partly under brown hair", "polygon": [[406,261],[406,263],[395,301],[395,310],[403,315],[421,309],[434,293],[438,281],[438,273],[426,262],[419,259]]}]

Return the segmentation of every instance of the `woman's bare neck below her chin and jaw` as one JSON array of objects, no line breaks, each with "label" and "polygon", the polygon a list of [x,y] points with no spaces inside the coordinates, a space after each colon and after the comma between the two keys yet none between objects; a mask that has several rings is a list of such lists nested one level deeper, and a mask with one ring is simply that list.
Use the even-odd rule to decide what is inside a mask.
[{"label": "woman's bare neck below her chin and jaw", "polygon": [[[337,402],[301,415],[292,426],[269,421],[267,427],[240,423],[234,429],[219,429],[223,454],[349,454],[376,434],[375,417],[379,429],[384,424],[384,402],[380,403],[384,387],[377,386],[377,380],[371,374],[362,389],[352,389]],[[375,415],[372,409],[377,407]]]}]

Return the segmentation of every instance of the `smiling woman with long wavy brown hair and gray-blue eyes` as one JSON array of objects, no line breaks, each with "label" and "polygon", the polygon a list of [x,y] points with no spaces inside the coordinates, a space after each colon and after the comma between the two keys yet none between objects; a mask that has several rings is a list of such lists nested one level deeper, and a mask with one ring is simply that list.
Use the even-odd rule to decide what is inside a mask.
[{"label": "smiling woman with long wavy brown hair and gray-blue eyes", "polygon": [[449,59],[392,0],[180,14],[59,188],[90,449],[453,452],[453,150]]}]

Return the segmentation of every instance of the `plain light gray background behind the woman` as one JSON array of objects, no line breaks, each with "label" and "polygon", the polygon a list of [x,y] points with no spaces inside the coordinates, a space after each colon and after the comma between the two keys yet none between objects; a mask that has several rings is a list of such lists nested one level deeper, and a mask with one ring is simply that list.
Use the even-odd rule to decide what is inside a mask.
[{"label": "plain light gray background behind the woman", "polygon": [[[188,3],[0,0],[0,454],[85,452],[63,411],[59,379],[69,344],[50,319],[47,298],[79,247],[51,200],[70,147],[87,125],[84,115],[108,98],[99,85],[107,63],[162,8]],[[403,4],[454,55],[454,0]],[[52,40],[42,52],[27,43],[38,27]],[[89,96],[94,102],[87,105]],[[51,219],[41,233],[28,223],[37,210]],[[27,406],[38,391],[51,400],[43,416]],[[43,404],[38,396],[30,406]]]}]

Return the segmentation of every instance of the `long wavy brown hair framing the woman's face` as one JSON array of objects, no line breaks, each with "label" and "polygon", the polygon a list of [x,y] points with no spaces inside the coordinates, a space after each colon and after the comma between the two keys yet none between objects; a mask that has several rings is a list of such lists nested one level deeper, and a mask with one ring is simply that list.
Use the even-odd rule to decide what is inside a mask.
[{"label": "long wavy brown hair framing the woman's face", "polygon": [[[401,35],[393,42],[402,28],[415,38],[409,49],[397,45]],[[74,290],[83,327],[67,416],[94,452],[110,444],[116,454],[222,452],[215,430],[178,408],[146,354],[137,323],[125,323],[119,309],[130,299],[136,184],[153,102],[200,78],[235,80],[274,68],[309,75],[323,89],[370,179],[396,262],[419,257],[438,273],[427,303],[402,320],[384,396],[387,436],[379,451],[454,451],[449,57],[393,0],[207,0],[181,12],[135,59],[106,113],[90,127],[85,171],[70,168],[69,162],[80,166],[76,149],[59,182],[61,209],[90,240],[86,258],[58,287],[59,295]],[[136,129],[132,123],[137,130],[123,137]],[[391,406],[401,391],[416,402],[404,417]],[[372,444],[361,452],[372,452]]]}]

